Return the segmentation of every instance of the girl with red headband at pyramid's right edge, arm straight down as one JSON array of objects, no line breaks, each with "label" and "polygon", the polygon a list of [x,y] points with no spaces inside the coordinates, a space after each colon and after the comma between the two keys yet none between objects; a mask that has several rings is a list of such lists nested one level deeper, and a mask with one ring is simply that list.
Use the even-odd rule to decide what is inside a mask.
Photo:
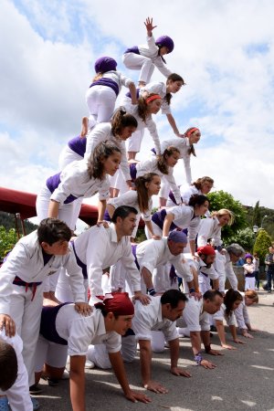
[{"label": "girl with red headband at pyramid's right edge, arm straight down", "polygon": [[[191,157],[191,154],[193,154],[194,156],[196,155],[194,144],[199,142],[200,138],[201,138],[200,130],[197,129],[196,127],[191,127],[190,129],[187,129],[186,132],[184,132],[184,138],[179,138],[179,139],[173,138],[173,139],[165,140],[164,142],[161,143],[162,151],[169,145],[173,145],[180,151],[180,158],[182,158],[184,161],[185,177],[186,177],[186,182],[188,184],[191,184],[191,181],[192,181],[190,157]],[[161,188],[161,192],[160,192],[161,206],[166,205],[166,200],[168,198],[169,191],[170,191],[169,185],[163,184]]]}]

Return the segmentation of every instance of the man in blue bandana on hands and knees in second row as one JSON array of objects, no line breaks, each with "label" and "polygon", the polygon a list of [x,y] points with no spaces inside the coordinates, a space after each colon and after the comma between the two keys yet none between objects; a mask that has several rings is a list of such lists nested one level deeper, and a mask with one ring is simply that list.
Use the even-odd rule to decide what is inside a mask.
[{"label": "man in blue bandana on hands and knees in second row", "polygon": [[[149,239],[142,241],[136,248],[136,259],[140,267],[140,272],[143,281],[143,288],[146,288],[150,295],[155,295],[158,291],[165,291],[171,288],[168,278],[164,278],[164,265],[173,264],[178,277],[184,278],[190,290],[190,296],[197,296],[194,287],[193,274],[184,260],[183,251],[186,247],[187,238],[183,231],[174,230],[169,233],[167,238],[160,240]],[[153,286],[153,269],[158,267],[163,269],[158,270],[156,274],[155,284]],[[166,277],[166,276],[165,276]],[[158,290],[157,290],[158,289]],[[160,290],[159,290],[160,289]]]}]

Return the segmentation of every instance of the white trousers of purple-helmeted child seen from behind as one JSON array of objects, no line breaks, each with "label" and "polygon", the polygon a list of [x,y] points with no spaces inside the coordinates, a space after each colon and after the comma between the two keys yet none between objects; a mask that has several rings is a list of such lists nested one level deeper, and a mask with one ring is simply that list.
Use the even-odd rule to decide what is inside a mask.
[{"label": "white trousers of purple-helmeted child seen from behind", "polygon": [[107,86],[93,86],[87,91],[86,100],[90,111],[90,120],[97,123],[111,120],[116,94]]}]

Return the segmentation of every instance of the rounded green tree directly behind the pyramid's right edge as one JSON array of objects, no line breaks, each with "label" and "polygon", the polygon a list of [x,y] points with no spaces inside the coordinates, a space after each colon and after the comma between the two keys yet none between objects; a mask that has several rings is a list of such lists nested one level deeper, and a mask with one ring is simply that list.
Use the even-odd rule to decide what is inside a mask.
[{"label": "rounded green tree directly behind the pyramid's right edge", "polygon": [[243,205],[238,200],[235,200],[232,195],[223,190],[209,193],[210,211],[218,211],[221,208],[227,208],[232,211],[235,216],[235,222],[231,227],[222,229],[222,238],[225,244],[231,242],[231,238],[237,235],[237,232],[248,227],[247,212]]}]

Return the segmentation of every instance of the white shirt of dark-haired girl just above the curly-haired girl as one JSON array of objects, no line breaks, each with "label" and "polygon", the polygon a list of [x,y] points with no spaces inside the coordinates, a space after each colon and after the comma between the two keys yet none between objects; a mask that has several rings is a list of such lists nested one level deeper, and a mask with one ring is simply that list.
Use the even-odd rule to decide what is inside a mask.
[{"label": "white shirt of dark-haired girl just above the curly-haired girl", "polygon": [[115,136],[112,134],[110,122],[101,122],[88,132],[86,153],[84,159],[87,161],[90,158],[90,154],[93,153],[95,147],[100,142],[105,142],[107,140],[111,140],[111,142],[114,142],[117,145],[117,147],[121,150],[121,173],[123,174],[123,177],[126,181],[132,180],[129,170],[129,163],[127,160],[125,142],[122,141],[119,138],[119,136]]}]

